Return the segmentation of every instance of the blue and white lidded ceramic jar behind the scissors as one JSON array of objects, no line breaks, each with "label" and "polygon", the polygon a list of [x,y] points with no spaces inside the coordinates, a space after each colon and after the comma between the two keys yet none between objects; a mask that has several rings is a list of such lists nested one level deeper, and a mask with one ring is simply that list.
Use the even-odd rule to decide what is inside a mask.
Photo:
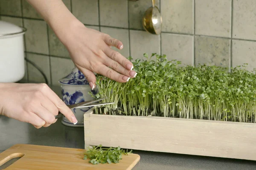
[{"label": "blue and white lidded ceramic jar behind the scissors", "polygon": [[[61,84],[62,100],[66,105],[73,105],[92,100],[94,98],[88,93],[90,91],[93,92],[93,95],[97,93],[96,88],[93,89],[93,91],[91,90],[89,82],[84,77],[84,74],[77,68],[73,68],[69,75],[59,80],[59,83]],[[78,121],[77,124],[74,125],[65,116],[63,116],[61,121],[62,124],[73,127],[84,127],[84,113],[89,109],[90,107],[72,109]]]}]

